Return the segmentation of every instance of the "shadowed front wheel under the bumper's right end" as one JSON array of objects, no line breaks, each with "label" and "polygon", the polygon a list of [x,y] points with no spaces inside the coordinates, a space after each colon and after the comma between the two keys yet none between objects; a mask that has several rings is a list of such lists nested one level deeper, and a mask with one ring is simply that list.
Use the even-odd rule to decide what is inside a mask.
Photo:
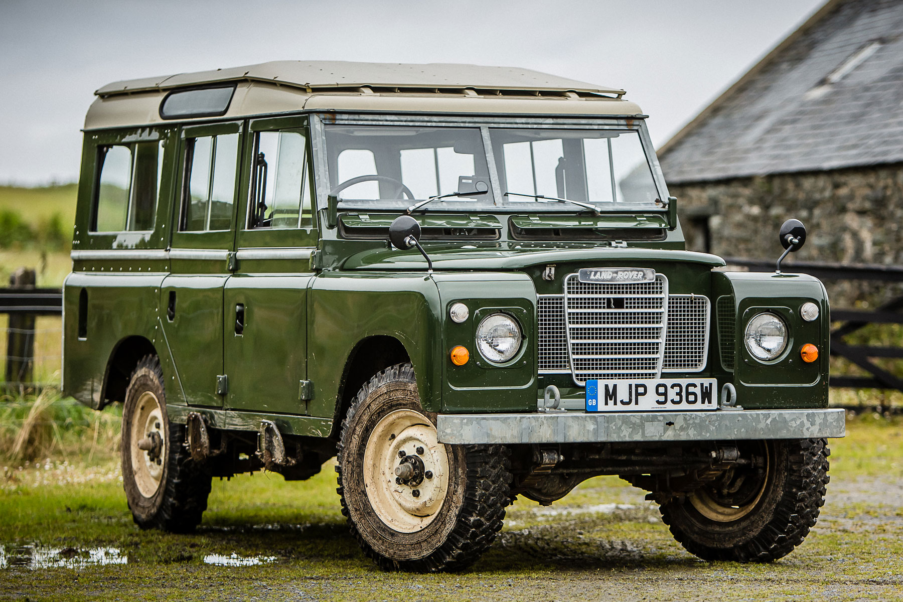
[{"label": "shadowed front wheel under the bumper's right end", "polygon": [[[675,540],[703,560],[768,562],[815,526],[828,483],[827,441],[749,441],[765,466],[746,468],[660,506]],[[761,462],[759,462],[761,464]]]}]

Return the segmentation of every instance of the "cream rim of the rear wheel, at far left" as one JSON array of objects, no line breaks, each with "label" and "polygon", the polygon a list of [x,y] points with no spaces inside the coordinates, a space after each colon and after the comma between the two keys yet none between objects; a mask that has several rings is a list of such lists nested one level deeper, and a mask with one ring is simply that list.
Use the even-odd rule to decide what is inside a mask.
[{"label": "cream rim of the rear wheel, at far left", "polygon": [[[142,393],[138,397],[138,402],[135,403],[130,434],[132,473],[135,485],[141,495],[151,497],[160,488],[160,482],[163,480],[167,441],[166,431],[163,429],[163,410],[160,407],[160,400],[150,391]],[[154,449],[141,449],[139,442],[144,439],[159,441],[159,444]]]}]

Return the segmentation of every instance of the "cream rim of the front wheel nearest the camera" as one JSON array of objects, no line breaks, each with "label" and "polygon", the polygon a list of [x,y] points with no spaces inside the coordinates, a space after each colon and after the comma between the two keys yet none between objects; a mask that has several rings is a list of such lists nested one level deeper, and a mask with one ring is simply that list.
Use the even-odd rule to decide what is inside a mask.
[{"label": "cream rim of the front wheel nearest the camera", "polygon": [[395,410],[377,422],[364,449],[364,488],[386,526],[416,533],[433,523],[448,481],[448,451],[422,413]]}]

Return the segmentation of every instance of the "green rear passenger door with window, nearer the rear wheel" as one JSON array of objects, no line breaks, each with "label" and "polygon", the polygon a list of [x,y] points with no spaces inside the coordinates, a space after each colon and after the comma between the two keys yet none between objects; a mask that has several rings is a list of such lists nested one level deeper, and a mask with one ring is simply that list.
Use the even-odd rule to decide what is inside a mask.
[{"label": "green rear passenger door with window, nearer the rear wheel", "polygon": [[235,244],[241,123],[182,128],[180,189],[163,279],[160,323],[172,389],[189,405],[223,405],[223,287]]}]

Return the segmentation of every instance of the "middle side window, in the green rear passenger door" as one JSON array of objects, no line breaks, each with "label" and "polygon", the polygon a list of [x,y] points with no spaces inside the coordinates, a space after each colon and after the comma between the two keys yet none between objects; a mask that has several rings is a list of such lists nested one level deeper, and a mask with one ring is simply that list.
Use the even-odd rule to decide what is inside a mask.
[{"label": "middle side window, in the green rear passenger door", "polygon": [[232,222],[238,134],[188,138],[182,186],[182,232],[228,230]]}]

